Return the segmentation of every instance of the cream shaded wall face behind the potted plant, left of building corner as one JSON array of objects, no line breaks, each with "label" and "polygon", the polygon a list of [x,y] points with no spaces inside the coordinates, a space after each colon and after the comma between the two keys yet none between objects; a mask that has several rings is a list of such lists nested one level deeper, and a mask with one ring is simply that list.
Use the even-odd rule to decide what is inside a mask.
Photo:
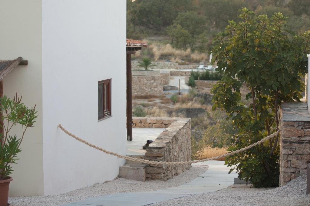
[{"label": "cream shaded wall face behind the potted plant, left of building corner", "polygon": [[[4,78],[4,95],[23,95],[27,106],[37,104],[38,120],[21,144],[20,160],[13,165],[10,196],[43,195],[42,154],[42,30],[41,1],[0,1],[0,59],[28,60]],[[21,128],[11,135],[21,137]]]}]

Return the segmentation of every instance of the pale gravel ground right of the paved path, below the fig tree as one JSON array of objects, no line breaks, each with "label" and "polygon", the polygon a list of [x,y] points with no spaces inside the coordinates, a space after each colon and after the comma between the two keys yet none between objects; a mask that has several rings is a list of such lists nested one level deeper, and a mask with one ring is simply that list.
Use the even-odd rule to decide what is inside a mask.
[{"label": "pale gravel ground right of the paved path, below the fig tree", "polygon": [[226,189],[200,195],[153,203],[150,206],[309,206],[306,195],[306,176],[296,178],[277,188],[253,188],[248,185],[232,185]]}]

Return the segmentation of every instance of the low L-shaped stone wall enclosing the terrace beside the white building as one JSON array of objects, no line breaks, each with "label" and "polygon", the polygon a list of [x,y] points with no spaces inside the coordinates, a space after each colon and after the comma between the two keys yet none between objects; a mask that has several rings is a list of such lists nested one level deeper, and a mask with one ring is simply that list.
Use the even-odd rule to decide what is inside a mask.
[{"label": "low L-shaped stone wall enclosing the terrace beside the white building", "polygon": [[[191,160],[191,119],[162,117],[133,117],[133,127],[166,128],[157,139],[146,148],[145,159],[153,161],[189,161]],[[179,175],[188,165],[149,165],[146,167],[147,179],[166,181]]]}]

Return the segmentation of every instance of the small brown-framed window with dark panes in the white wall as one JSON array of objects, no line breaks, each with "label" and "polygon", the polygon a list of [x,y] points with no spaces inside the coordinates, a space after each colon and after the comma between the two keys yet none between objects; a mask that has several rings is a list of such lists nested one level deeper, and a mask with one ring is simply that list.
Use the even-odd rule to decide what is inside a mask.
[{"label": "small brown-framed window with dark panes in the white wall", "polygon": [[111,116],[111,79],[98,81],[98,120]]}]

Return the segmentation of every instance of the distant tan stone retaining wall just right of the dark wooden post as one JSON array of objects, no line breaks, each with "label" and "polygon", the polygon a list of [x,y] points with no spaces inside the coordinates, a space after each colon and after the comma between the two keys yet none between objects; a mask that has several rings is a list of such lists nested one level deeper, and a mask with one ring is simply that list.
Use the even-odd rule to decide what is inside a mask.
[{"label": "distant tan stone retaining wall just right of the dark wooden post", "polygon": [[[156,72],[155,75],[143,75],[143,72]],[[157,74],[158,73],[158,74]],[[132,95],[163,95],[163,85],[169,84],[169,72],[135,71],[132,75]]]}]

